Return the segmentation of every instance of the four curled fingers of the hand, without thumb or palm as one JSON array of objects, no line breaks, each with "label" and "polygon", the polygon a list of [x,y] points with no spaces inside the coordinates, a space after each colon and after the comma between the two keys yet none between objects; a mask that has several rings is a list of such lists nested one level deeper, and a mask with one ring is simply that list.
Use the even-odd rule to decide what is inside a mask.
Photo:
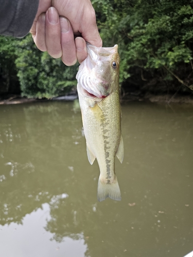
[{"label": "four curled fingers of the hand, without thumb or palm", "polygon": [[59,17],[54,7],[38,17],[35,30],[32,36],[37,47],[53,58],[61,57],[65,65],[74,65],[77,59],[81,63],[86,58],[85,40],[81,37],[74,39],[71,23],[65,17]]}]

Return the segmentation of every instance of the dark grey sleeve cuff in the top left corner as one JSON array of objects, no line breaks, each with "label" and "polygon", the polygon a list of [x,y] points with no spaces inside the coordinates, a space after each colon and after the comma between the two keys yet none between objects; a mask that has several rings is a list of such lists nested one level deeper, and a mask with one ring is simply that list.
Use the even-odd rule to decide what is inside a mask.
[{"label": "dark grey sleeve cuff in the top left corner", "polygon": [[25,36],[36,17],[39,0],[0,0],[0,34]]}]

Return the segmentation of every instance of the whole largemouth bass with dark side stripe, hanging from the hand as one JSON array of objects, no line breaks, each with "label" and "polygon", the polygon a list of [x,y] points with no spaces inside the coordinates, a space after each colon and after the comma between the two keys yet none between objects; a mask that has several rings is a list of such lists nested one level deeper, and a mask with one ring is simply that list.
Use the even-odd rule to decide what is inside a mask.
[{"label": "whole largemouth bass with dark side stripe, hanging from the hand", "polygon": [[121,200],[115,174],[115,156],[122,163],[118,45],[96,47],[86,43],[87,57],[80,64],[77,91],[89,162],[97,159],[100,175],[97,198]]}]

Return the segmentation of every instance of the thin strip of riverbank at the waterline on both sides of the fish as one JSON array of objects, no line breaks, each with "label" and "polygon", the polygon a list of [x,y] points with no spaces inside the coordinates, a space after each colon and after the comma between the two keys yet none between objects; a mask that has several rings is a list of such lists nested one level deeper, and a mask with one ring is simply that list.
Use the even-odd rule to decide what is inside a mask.
[{"label": "thin strip of riverbank at the waterline on both sides of the fish", "polygon": [[[60,96],[52,99],[36,99],[36,98],[26,98],[21,97],[20,95],[8,95],[0,96],[0,104],[21,104],[29,102],[42,102],[42,101],[73,101],[78,98],[78,95],[68,95]],[[130,101],[150,101],[152,103],[179,103],[179,104],[192,104],[193,105],[193,95],[178,95],[178,94],[164,94],[164,95],[153,95],[145,94],[141,95],[132,95],[127,94],[120,97],[121,102],[130,102]]]}]

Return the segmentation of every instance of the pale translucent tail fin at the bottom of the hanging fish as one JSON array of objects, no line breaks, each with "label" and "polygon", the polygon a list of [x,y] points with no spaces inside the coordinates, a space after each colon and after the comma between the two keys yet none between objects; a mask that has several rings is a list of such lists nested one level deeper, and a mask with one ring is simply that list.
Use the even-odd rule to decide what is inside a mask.
[{"label": "pale translucent tail fin at the bottom of the hanging fish", "polygon": [[102,181],[102,179],[99,177],[97,198],[99,201],[103,201],[107,197],[110,197],[113,200],[121,200],[120,189],[116,175],[114,181],[111,183]]}]

